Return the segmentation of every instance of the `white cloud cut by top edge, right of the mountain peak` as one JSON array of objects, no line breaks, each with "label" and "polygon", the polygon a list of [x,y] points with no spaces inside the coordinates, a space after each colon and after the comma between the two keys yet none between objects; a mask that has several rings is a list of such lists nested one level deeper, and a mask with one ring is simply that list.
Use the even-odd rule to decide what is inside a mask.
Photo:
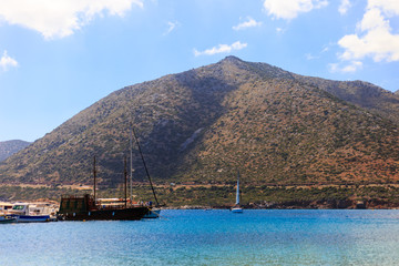
[{"label": "white cloud cut by top edge, right of the mountain peak", "polygon": [[291,20],[299,13],[309,12],[313,9],[324,8],[327,0],[265,0],[264,8],[269,16],[277,19]]}]

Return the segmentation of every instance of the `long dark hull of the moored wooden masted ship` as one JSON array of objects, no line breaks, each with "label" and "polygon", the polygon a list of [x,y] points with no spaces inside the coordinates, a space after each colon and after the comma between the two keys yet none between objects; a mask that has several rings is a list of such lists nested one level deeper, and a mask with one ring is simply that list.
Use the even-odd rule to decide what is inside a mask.
[{"label": "long dark hull of the moored wooden masted ship", "polygon": [[137,221],[149,213],[147,207],[93,209],[81,213],[64,213],[59,215],[63,221]]}]

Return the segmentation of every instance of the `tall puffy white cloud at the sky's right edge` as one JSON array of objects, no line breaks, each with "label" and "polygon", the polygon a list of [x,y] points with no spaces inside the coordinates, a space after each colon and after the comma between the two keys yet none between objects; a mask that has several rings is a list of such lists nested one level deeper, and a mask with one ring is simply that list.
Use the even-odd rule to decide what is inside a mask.
[{"label": "tall puffy white cloud at the sky's right edge", "polygon": [[358,33],[342,37],[338,44],[344,48],[341,60],[399,61],[399,34],[392,33],[390,16],[399,16],[399,1],[369,0],[366,13],[358,23]]}]

